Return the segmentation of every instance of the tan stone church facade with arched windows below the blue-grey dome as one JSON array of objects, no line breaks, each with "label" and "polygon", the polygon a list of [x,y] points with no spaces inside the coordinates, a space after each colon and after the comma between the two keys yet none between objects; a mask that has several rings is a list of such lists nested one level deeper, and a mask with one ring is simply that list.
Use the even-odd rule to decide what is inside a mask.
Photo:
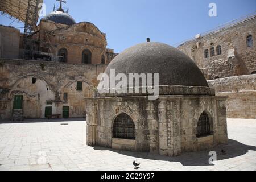
[{"label": "tan stone church facade with arched windows below the blue-grey dome", "polygon": [[106,49],[106,34],[92,23],[59,27],[55,22],[42,19],[37,28],[34,39],[39,40],[39,45],[36,49],[40,53],[63,57],[64,63],[108,64],[116,55]]}]

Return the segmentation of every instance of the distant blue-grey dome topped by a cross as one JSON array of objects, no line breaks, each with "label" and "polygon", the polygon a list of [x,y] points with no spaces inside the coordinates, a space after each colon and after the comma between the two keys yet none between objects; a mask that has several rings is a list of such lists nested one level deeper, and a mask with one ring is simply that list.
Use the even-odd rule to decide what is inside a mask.
[{"label": "distant blue-grey dome topped by a cross", "polygon": [[76,24],[76,21],[72,18],[71,15],[64,13],[63,11],[53,11],[44,17],[46,20],[50,20],[55,23],[66,24],[68,26],[72,26]]}]

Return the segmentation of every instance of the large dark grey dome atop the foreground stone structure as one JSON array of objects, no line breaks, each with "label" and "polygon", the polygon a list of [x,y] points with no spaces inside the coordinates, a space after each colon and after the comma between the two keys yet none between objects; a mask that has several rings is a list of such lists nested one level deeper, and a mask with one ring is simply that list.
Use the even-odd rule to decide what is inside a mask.
[{"label": "large dark grey dome atop the foreground stone structure", "polygon": [[[159,73],[159,86],[182,85],[209,87],[197,65],[183,52],[163,43],[146,42],[130,47],[116,56],[106,68],[115,75]],[[158,85],[155,85],[158,86]]]}]

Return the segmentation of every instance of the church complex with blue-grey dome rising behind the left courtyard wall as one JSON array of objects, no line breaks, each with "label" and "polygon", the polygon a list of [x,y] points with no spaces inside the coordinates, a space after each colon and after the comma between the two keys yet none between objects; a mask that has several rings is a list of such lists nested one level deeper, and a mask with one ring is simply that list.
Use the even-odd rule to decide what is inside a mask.
[{"label": "church complex with blue-grey dome rising behind the left courtyard wall", "polygon": [[106,34],[93,23],[76,23],[61,6],[41,19],[34,33],[27,37],[14,27],[0,26],[3,59],[109,64],[117,53],[106,48],[107,44]]}]

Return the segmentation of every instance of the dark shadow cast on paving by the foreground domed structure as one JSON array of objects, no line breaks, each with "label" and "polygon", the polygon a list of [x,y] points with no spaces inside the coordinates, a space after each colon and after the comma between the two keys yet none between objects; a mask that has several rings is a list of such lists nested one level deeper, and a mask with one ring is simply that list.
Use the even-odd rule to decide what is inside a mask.
[{"label": "dark shadow cast on paving by the foreground domed structure", "polygon": [[[210,166],[209,164],[209,152],[217,152],[217,160],[224,160],[235,158],[237,156],[245,155],[249,150],[256,151],[255,146],[247,146],[243,143],[237,142],[236,140],[229,139],[227,145],[218,145],[207,151],[189,152],[181,154],[177,157],[168,157],[162,155],[153,155],[145,152],[130,152],[130,151],[118,151],[112,150],[105,147],[94,147],[95,150],[109,150],[117,152],[118,154],[133,156],[134,158],[151,159],[151,160],[163,160],[168,162],[180,162],[183,166]],[[222,154],[221,150],[226,153]]]}]

